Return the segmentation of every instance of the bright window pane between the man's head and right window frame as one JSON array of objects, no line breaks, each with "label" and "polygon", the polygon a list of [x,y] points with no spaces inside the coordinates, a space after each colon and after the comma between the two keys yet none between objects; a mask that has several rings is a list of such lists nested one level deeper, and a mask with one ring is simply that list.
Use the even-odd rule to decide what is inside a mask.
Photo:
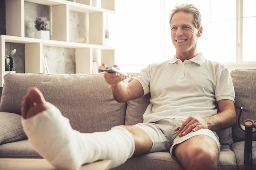
[{"label": "bright window pane between the man's head and right window frame", "polygon": [[[198,39],[198,52],[213,61],[236,62],[236,1],[183,0],[182,3],[194,4],[202,15],[203,32]],[[173,9],[176,4],[170,2],[166,7]]]}]

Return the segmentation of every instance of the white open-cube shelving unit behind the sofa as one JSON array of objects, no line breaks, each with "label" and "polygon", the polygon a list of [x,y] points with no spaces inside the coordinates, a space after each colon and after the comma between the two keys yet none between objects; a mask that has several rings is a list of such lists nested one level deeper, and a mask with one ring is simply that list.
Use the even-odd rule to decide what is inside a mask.
[{"label": "white open-cube shelving unit behind the sofa", "polygon": [[[51,7],[51,40],[25,37],[24,2]],[[115,63],[115,48],[105,46],[105,15],[115,13],[115,0],[101,0],[101,8],[92,6],[93,0],[7,0],[6,34],[0,35],[1,86],[5,74],[5,42],[25,44],[25,73],[43,72],[43,48],[45,46],[75,49],[75,72],[92,73],[93,50],[101,50],[101,63]],[[84,13],[87,33],[86,43],[70,41],[70,12]],[[15,23],[15,25],[13,24]]]}]

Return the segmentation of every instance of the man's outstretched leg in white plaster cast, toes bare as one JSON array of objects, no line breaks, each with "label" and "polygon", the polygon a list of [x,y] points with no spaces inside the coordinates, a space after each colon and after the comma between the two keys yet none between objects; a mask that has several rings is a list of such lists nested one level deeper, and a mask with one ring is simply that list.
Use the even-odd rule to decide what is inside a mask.
[{"label": "man's outstretched leg in white plaster cast, toes bare", "polygon": [[135,135],[126,130],[132,127],[117,126],[91,134],[73,130],[69,120],[36,88],[30,89],[22,102],[22,125],[35,150],[60,169],[79,169],[99,159],[112,160],[113,168],[132,156],[135,143],[143,143],[143,139],[135,142]]}]

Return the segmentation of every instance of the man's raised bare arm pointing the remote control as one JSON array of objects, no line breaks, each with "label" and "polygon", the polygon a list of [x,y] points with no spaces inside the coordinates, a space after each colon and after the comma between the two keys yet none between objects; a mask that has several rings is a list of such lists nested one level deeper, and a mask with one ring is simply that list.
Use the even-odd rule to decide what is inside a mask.
[{"label": "man's raised bare arm pointing the remote control", "polygon": [[112,93],[117,102],[127,102],[128,100],[143,96],[144,90],[137,80],[133,80],[128,85],[122,81],[126,76],[117,76],[115,73],[104,73],[105,81],[111,85]]}]

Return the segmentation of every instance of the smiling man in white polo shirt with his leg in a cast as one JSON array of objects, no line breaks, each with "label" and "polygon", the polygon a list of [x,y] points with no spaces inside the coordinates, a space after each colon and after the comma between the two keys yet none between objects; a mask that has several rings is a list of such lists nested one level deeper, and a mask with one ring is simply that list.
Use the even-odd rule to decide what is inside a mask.
[{"label": "smiling man in white polo shirt with his leg in a cast", "polygon": [[38,153],[57,168],[78,169],[99,159],[111,159],[113,168],[132,155],[166,151],[186,170],[216,170],[220,143],[215,131],[236,122],[229,71],[197,52],[203,29],[196,7],[177,6],[170,26],[176,48],[173,59],[148,65],[127,86],[122,83],[126,76],[104,73],[117,102],[150,92],[144,123],[79,133],[32,88],[22,102],[22,124]]}]

